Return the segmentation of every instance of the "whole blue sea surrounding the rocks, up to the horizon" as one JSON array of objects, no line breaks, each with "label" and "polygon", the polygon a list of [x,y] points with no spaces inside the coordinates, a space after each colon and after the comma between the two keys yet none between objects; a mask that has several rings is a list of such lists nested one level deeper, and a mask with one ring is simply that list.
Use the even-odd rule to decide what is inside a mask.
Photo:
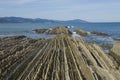
[{"label": "whole blue sea surrounding the rocks, up to the horizon", "polygon": [[[25,35],[29,38],[51,38],[53,35],[36,34],[32,30],[43,28],[54,28],[58,26],[73,26],[70,30],[73,32],[76,29],[82,29],[89,33],[89,37],[82,37],[86,42],[97,44],[114,44],[114,38],[120,39],[120,23],[79,23],[79,24],[57,24],[57,23],[0,23],[0,37]],[[97,36],[90,34],[91,31],[104,32],[111,36]],[[81,37],[77,34],[73,36]]]}]

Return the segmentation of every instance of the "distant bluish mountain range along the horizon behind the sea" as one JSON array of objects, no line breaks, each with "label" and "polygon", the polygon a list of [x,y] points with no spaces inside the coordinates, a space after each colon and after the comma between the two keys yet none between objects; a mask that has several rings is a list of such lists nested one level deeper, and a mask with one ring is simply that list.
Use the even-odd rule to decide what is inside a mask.
[{"label": "distant bluish mountain range along the horizon behind the sea", "polygon": [[87,21],[75,19],[75,20],[67,20],[67,21],[59,21],[59,20],[48,20],[48,19],[32,19],[32,18],[22,18],[22,17],[0,17],[0,23],[87,23]]}]

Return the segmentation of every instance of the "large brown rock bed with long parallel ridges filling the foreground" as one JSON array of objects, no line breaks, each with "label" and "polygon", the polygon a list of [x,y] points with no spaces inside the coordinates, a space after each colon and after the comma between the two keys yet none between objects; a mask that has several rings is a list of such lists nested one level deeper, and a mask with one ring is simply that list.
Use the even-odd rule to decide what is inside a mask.
[{"label": "large brown rock bed with long parallel ridges filling the foreground", "polygon": [[120,80],[96,44],[61,33],[51,39],[0,39],[0,80]]}]

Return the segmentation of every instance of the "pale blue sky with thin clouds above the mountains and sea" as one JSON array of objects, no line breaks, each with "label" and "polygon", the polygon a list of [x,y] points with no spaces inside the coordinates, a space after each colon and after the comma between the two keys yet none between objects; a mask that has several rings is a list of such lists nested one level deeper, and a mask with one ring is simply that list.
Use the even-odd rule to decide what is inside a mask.
[{"label": "pale blue sky with thin clouds above the mountains and sea", "polygon": [[0,0],[0,17],[120,22],[120,0]]}]

